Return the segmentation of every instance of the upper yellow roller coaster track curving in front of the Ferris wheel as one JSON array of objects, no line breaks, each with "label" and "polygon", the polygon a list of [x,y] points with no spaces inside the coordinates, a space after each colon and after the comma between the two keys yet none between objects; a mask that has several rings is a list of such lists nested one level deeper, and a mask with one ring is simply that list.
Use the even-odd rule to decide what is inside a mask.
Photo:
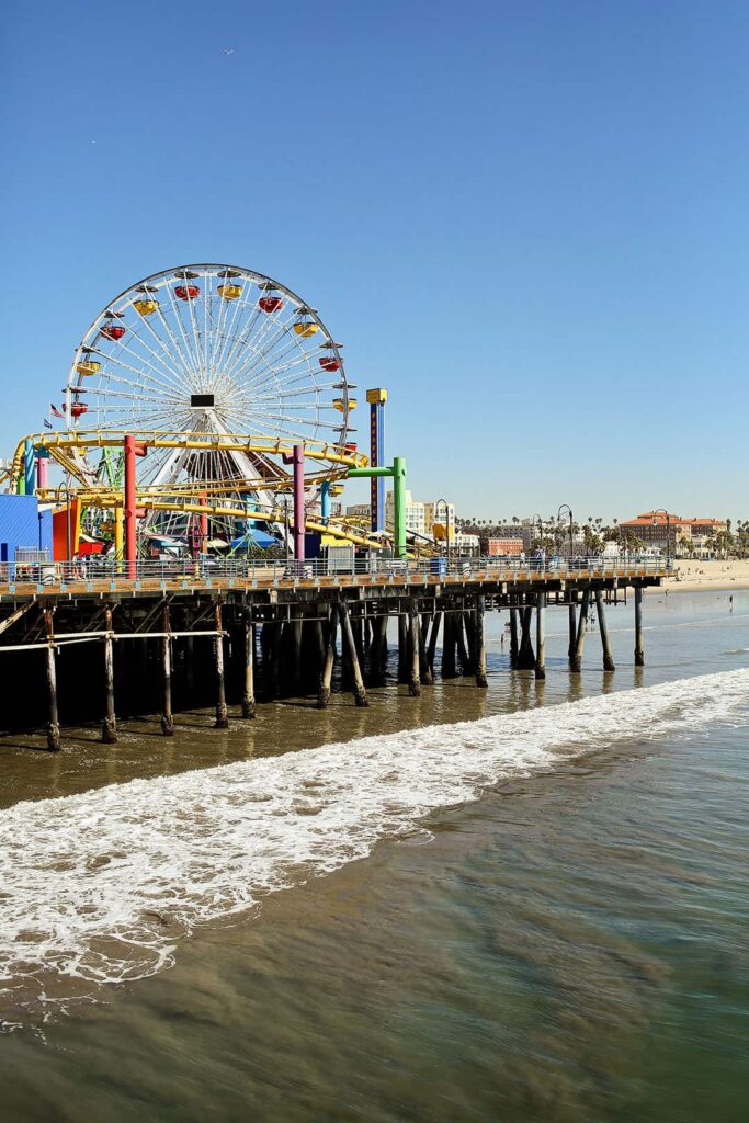
[{"label": "upper yellow roller coaster track curving in front of the Ferris wheel", "polygon": [[[167,432],[162,430],[133,430],[133,429],[91,429],[71,430],[61,432],[30,433],[21,438],[18,442],[13,458],[8,472],[11,487],[16,487],[24,467],[24,446],[26,440],[34,441],[36,448],[45,448],[49,455],[61,464],[66,472],[70,472],[75,480],[82,484],[88,481],[82,472],[80,463],[70,454],[82,449],[88,451],[93,448],[122,448],[125,437],[135,437],[138,445],[146,448],[186,448],[197,453],[245,453],[259,456],[291,456],[293,453],[293,440],[280,440],[270,437],[246,437],[236,433],[204,433],[204,432]],[[299,441],[304,446],[305,459],[314,460],[326,465],[312,477],[307,480],[336,480],[345,476],[349,468],[366,467],[369,463],[364,453],[341,445],[332,445],[323,441],[304,440]],[[277,476],[263,477],[265,486],[289,486],[289,475],[278,469]],[[198,484],[197,484],[198,486]],[[231,489],[231,483],[227,481],[227,490]]]}]

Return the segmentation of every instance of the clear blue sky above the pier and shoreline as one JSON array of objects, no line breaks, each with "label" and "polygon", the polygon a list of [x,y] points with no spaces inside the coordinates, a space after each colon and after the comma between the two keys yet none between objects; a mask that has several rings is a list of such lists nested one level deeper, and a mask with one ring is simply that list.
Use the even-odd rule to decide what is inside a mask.
[{"label": "clear blue sky above the pier and shoreline", "polygon": [[389,389],[420,499],[749,518],[748,75],[724,0],[7,7],[1,454],[116,294],[227,262]]}]

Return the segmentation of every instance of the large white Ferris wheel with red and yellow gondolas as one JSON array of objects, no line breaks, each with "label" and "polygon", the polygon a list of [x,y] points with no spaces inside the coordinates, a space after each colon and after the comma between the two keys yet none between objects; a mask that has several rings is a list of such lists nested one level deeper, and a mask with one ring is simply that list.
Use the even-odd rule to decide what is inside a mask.
[{"label": "large white Ferris wheel with red and yellow gondolas", "polygon": [[[68,429],[245,433],[348,444],[356,405],[341,344],[287,286],[235,265],[185,265],[115,298],[76,348]],[[350,445],[349,445],[350,447]],[[266,456],[164,449],[146,483],[231,486],[277,474]]]}]

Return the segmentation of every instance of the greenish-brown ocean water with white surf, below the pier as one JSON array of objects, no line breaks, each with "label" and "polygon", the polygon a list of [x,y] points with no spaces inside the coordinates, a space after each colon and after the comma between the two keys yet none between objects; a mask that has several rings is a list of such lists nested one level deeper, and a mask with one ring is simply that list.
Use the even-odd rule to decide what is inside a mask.
[{"label": "greenish-brown ocean water with white surf, below the pier", "polygon": [[3,1120],[733,1123],[749,593],[618,669],[0,742]]}]

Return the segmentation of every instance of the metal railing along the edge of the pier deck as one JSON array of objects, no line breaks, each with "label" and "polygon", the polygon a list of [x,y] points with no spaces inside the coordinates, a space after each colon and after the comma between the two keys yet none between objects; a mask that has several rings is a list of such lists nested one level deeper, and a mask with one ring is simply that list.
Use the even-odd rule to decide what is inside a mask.
[{"label": "metal railing along the edge of the pier deck", "polygon": [[654,557],[356,558],[345,562],[222,558],[124,560],[92,555],[74,562],[0,564],[0,595],[17,590],[93,591],[158,587],[267,587],[444,582],[533,582],[565,578],[665,577],[673,563]]}]

